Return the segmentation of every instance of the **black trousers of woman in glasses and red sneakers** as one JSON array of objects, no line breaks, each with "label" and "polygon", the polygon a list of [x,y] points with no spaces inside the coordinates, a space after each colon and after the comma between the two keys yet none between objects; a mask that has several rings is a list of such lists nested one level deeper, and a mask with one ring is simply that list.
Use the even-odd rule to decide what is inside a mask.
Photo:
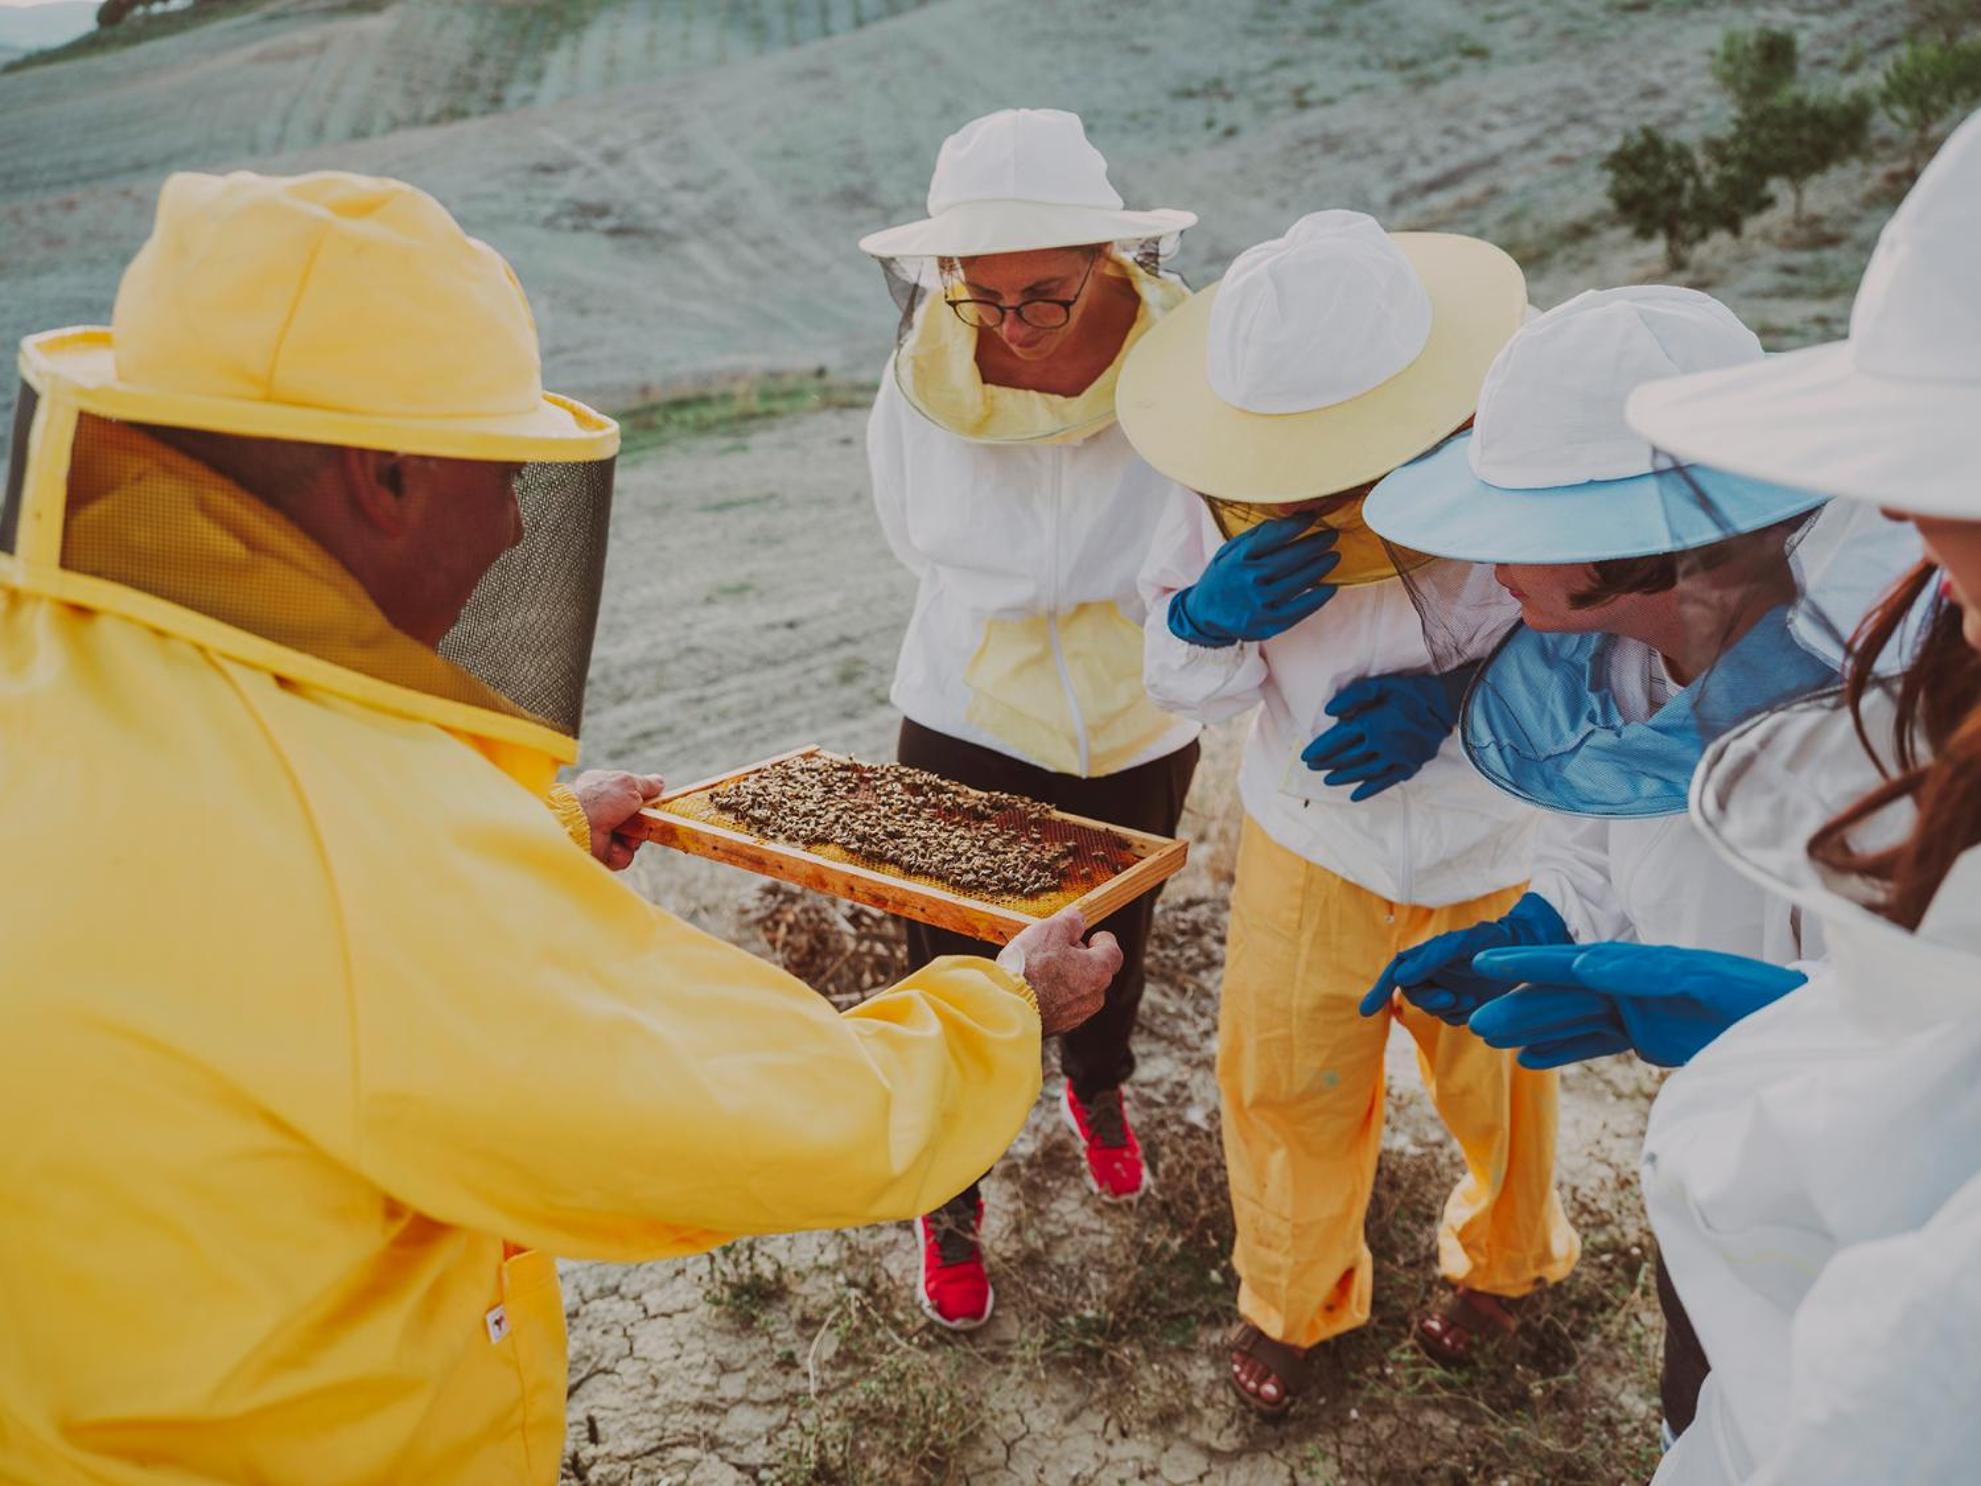
[{"label": "black trousers of woman in glasses and red sneakers", "polygon": [[[1199,753],[1200,749],[1193,741],[1133,769],[1099,779],[1080,779],[1078,775],[1056,775],[996,749],[965,743],[905,717],[895,749],[901,763],[927,769],[931,775],[953,779],[959,785],[1026,795],[1068,814],[1084,814],[1111,826],[1147,830],[1157,836],[1177,832]],[[1107,1003],[1082,1026],[1060,1038],[1060,1070],[1072,1080],[1074,1094],[1082,1102],[1092,1100],[1101,1090],[1125,1084],[1135,1072],[1135,1050],[1129,1042],[1135,1032],[1135,1012],[1141,1007],[1143,955],[1149,949],[1149,925],[1155,921],[1157,898],[1161,898],[1161,888],[1115,909],[1101,925],[1121,941],[1121,973],[1107,987]],[[943,955],[996,959],[996,945],[967,939],[951,929],[935,929],[927,923],[907,925],[911,969]],[[971,1203],[977,1201],[975,1183],[963,1197]]]}]

